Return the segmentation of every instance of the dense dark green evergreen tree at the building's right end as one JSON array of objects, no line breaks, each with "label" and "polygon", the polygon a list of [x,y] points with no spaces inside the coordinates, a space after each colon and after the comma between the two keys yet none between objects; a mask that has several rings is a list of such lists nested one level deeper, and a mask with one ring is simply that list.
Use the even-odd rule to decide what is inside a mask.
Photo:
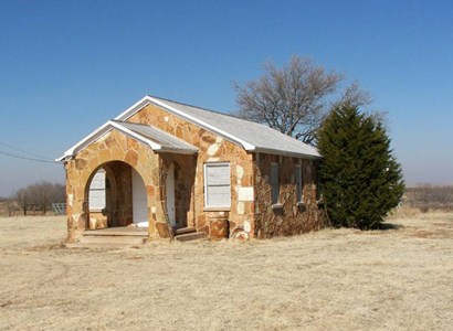
[{"label": "dense dark green evergreen tree at the building's right end", "polygon": [[323,200],[335,226],[379,227],[404,191],[382,125],[351,105],[334,109],[318,131]]}]

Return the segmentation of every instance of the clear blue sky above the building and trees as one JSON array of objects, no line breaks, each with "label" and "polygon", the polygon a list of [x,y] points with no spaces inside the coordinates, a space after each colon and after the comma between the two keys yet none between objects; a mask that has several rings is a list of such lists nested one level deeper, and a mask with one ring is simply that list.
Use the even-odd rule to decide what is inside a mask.
[{"label": "clear blue sky above the building and trees", "polygon": [[[453,184],[452,1],[3,0],[0,152],[57,158],[146,94],[234,110],[293,54],[388,111],[408,184]],[[0,154],[0,195],[40,180],[63,167]]]}]

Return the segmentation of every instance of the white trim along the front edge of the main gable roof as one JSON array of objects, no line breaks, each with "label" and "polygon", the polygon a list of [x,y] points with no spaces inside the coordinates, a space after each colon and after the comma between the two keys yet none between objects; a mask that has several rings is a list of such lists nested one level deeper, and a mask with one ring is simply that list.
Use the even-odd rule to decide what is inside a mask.
[{"label": "white trim along the front edge of the main gable roof", "polygon": [[191,122],[194,122],[203,128],[207,128],[208,130],[218,134],[220,136],[223,136],[230,140],[232,140],[233,142],[236,142],[239,145],[241,145],[245,150],[247,151],[254,151],[255,150],[255,146],[253,146],[250,142],[246,142],[245,140],[242,140],[229,132],[225,132],[197,117],[193,117],[191,115],[188,115],[175,107],[171,107],[158,99],[155,99],[154,97],[150,97],[149,95],[147,95],[146,97],[144,97],[141,100],[139,100],[137,104],[135,104],[134,106],[131,106],[130,108],[128,108],[127,110],[123,111],[119,116],[115,117],[115,120],[127,120],[130,116],[133,116],[134,114],[136,114],[138,110],[140,110],[141,108],[144,108],[145,106],[147,106],[147,104],[155,104],[157,106],[162,107],[164,109],[167,109],[185,119],[188,119]]}]

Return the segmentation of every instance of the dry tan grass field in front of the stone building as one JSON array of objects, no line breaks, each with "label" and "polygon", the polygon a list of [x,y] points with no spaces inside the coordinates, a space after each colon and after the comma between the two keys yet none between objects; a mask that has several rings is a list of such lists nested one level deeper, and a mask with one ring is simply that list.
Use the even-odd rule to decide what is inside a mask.
[{"label": "dry tan grass field in front of the stone building", "polygon": [[0,218],[0,330],[452,330],[453,214],[386,231],[67,249]]}]

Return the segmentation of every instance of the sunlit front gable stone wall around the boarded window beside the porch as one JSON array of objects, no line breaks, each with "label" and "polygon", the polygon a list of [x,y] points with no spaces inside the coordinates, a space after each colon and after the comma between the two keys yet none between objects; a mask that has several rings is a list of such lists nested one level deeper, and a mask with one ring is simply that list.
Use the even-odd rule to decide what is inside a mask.
[{"label": "sunlit front gable stone wall around the boarded window beside the porch", "polygon": [[[154,105],[144,107],[127,120],[152,125],[199,148],[198,154],[190,162],[187,159],[182,161],[183,158],[180,158],[180,156],[161,154],[167,163],[169,162],[168,160],[173,160],[179,164],[180,169],[193,167],[189,168],[191,173],[194,173],[193,186],[190,193],[192,201],[190,203],[183,202],[186,206],[190,206],[190,210],[187,211],[188,225],[193,225],[197,231],[208,234],[210,233],[211,222],[218,222],[218,220],[222,218],[230,221],[230,234],[238,228],[250,227],[250,224],[253,223],[254,203],[253,199],[251,201],[250,196],[244,196],[242,192],[246,190],[253,191],[252,154],[247,153],[242,147]],[[221,161],[230,162],[231,167],[231,209],[207,211],[204,209],[203,164],[206,162]],[[192,171],[193,169],[194,171]],[[189,184],[189,182],[183,183],[186,189],[188,189]]]}]

